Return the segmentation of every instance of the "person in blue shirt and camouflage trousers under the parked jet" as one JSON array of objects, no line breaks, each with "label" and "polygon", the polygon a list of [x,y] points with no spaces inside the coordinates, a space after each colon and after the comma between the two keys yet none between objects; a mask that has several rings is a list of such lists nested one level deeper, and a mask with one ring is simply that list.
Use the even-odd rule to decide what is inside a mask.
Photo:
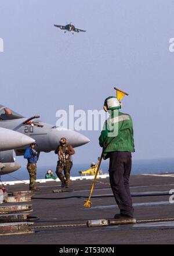
[{"label": "person in blue shirt and camouflage trousers under the parked jet", "polygon": [[37,177],[37,151],[35,151],[35,145],[36,143],[30,144],[30,147],[28,147],[24,153],[24,158],[28,160],[27,164],[27,170],[30,175],[30,190],[38,190],[35,186],[35,181]]}]

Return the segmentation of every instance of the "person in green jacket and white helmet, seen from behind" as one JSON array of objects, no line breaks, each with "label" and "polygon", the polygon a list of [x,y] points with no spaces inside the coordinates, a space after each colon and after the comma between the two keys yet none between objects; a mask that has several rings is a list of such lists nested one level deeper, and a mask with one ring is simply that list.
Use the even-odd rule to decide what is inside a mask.
[{"label": "person in green jacket and white helmet, seen from behind", "polygon": [[120,214],[115,218],[133,218],[129,176],[134,152],[133,125],[130,115],[119,112],[121,102],[116,97],[104,101],[105,111],[110,113],[99,137],[103,147],[103,158],[110,158],[109,175],[111,189],[118,204]]}]

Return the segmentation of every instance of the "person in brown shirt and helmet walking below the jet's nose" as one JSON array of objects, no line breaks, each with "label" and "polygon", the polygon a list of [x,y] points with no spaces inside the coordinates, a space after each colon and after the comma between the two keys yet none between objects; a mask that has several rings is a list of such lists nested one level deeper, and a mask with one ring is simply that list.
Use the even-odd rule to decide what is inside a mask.
[{"label": "person in brown shirt and helmet walking below the jet's nose", "polygon": [[66,138],[61,138],[55,154],[59,156],[56,168],[57,177],[61,180],[61,187],[66,186],[67,189],[70,186],[70,170],[73,166],[71,155],[75,154],[74,148],[68,145]]}]

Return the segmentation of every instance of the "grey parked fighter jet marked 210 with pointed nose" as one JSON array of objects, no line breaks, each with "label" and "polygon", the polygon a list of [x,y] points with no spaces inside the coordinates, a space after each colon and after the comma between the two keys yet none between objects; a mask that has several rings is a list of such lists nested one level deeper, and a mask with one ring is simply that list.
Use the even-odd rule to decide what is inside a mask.
[{"label": "grey parked fighter jet marked 210 with pointed nose", "polygon": [[[0,127],[18,131],[33,138],[36,143],[38,155],[40,152],[50,152],[56,150],[61,137],[66,137],[68,143],[73,147],[79,147],[90,140],[82,134],[71,130],[62,130],[60,127],[50,125],[41,121],[34,121],[39,116],[25,118],[18,113],[0,105]],[[16,155],[24,155],[26,147],[15,149]],[[14,162],[13,151],[0,152],[0,159],[5,158],[6,162]],[[2,162],[2,161],[1,161]],[[8,172],[6,172],[8,173]],[[4,173],[4,174],[6,174]]]}]

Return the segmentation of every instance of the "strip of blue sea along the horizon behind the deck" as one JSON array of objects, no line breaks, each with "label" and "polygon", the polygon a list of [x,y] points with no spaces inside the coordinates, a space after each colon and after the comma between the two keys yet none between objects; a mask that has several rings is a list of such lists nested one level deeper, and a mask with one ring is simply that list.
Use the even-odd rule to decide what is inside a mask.
[{"label": "strip of blue sea along the horizon behind the deck", "polygon": [[[108,174],[108,160],[102,161],[101,168],[103,174]],[[71,176],[79,176],[80,170],[86,170],[90,168],[90,163],[73,163],[71,169]],[[40,166],[38,163],[37,168],[37,179],[44,179],[45,173],[48,169],[52,169],[56,176],[56,163],[53,166]],[[142,175],[142,174],[157,174],[157,173],[174,173],[174,158],[160,158],[160,159],[143,159],[132,161],[131,175]],[[13,181],[13,180],[28,180],[28,171],[26,167],[22,167],[16,172],[9,173],[8,175],[2,175],[2,182]]]}]

